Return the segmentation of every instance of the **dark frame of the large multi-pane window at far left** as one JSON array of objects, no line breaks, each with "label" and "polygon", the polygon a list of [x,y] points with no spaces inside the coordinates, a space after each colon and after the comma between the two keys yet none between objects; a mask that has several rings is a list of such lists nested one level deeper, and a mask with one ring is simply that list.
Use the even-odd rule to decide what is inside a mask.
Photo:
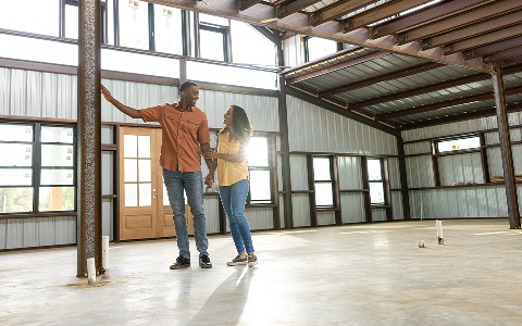
[{"label": "dark frame of the large multi-pane window at far left", "polygon": [[[10,216],[10,215],[21,215],[21,216],[27,216],[27,217],[34,217],[35,215],[45,215],[45,214],[53,214],[53,215],[63,215],[63,214],[76,214],[77,212],[77,162],[76,162],[76,149],[77,149],[77,140],[76,140],[76,133],[77,133],[77,127],[75,124],[67,124],[67,123],[40,123],[40,122],[11,122],[11,121],[1,121],[0,122],[0,128],[3,125],[20,125],[20,126],[27,126],[33,129],[33,140],[32,140],[32,146],[33,146],[33,153],[32,153],[32,171],[33,171],[33,176],[30,180],[30,186],[22,186],[22,188],[30,188],[33,189],[33,204],[32,204],[32,212],[5,212],[5,213],[0,213],[0,216]],[[42,141],[41,140],[41,129],[42,127],[66,127],[71,128],[73,130],[73,142],[72,143],[62,143],[62,142],[49,142],[49,141]],[[0,140],[1,143],[29,143],[28,141],[4,141]],[[63,145],[63,146],[72,146],[73,147],[73,152],[72,152],[72,173],[73,173],[73,183],[72,185],[61,185],[61,184],[53,184],[53,185],[41,185],[41,171],[42,170],[71,170],[71,168],[65,168],[62,166],[47,166],[42,165],[41,162],[41,148],[42,145]],[[11,167],[11,168],[18,168],[18,167]],[[27,168],[27,167],[20,167],[20,168]],[[21,186],[14,186],[14,185],[8,185],[8,186],[0,186],[0,189],[5,189],[5,188],[17,188]],[[74,209],[73,210],[62,210],[62,211],[40,211],[39,204],[40,204],[40,188],[51,188],[51,187],[71,187],[73,188],[74,191]]]}]

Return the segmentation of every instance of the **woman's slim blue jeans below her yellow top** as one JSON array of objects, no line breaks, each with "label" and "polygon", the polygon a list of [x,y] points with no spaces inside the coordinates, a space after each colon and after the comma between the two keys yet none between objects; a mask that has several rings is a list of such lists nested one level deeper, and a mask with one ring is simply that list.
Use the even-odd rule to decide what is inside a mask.
[{"label": "woman's slim blue jeans below her yellow top", "polygon": [[245,203],[248,196],[248,180],[244,179],[232,186],[220,186],[220,198],[231,226],[232,238],[237,253],[253,252],[250,225],[245,217]]}]

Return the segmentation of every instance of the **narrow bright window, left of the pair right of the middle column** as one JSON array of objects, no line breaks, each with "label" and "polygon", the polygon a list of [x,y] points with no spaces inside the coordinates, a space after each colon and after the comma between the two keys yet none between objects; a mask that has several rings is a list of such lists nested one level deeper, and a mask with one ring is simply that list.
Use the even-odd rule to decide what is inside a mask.
[{"label": "narrow bright window, left of the pair right of the middle column", "polygon": [[331,156],[313,158],[313,183],[315,185],[315,205],[318,208],[333,208],[334,189]]}]

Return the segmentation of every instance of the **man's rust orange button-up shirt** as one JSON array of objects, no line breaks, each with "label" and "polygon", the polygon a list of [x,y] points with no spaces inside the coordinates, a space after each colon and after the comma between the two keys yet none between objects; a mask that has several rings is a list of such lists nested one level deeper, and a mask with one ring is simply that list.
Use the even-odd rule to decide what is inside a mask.
[{"label": "man's rust orange button-up shirt", "polygon": [[170,171],[201,171],[201,143],[210,142],[207,114],[197,106],[182,111],[178,103],[142,109],[145,122],[161,125],[160,164]]}]

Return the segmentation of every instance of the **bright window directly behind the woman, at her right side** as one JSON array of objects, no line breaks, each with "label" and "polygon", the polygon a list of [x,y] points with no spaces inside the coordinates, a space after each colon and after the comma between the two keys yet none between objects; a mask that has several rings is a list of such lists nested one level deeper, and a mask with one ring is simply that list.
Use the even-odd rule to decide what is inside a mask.
[{"label": "bright window directly behind the woman, at her right side", "polygon": [[248,147],[250,178],[249,203],[272,203],[269,141],[266,137],[250,137]]}]

